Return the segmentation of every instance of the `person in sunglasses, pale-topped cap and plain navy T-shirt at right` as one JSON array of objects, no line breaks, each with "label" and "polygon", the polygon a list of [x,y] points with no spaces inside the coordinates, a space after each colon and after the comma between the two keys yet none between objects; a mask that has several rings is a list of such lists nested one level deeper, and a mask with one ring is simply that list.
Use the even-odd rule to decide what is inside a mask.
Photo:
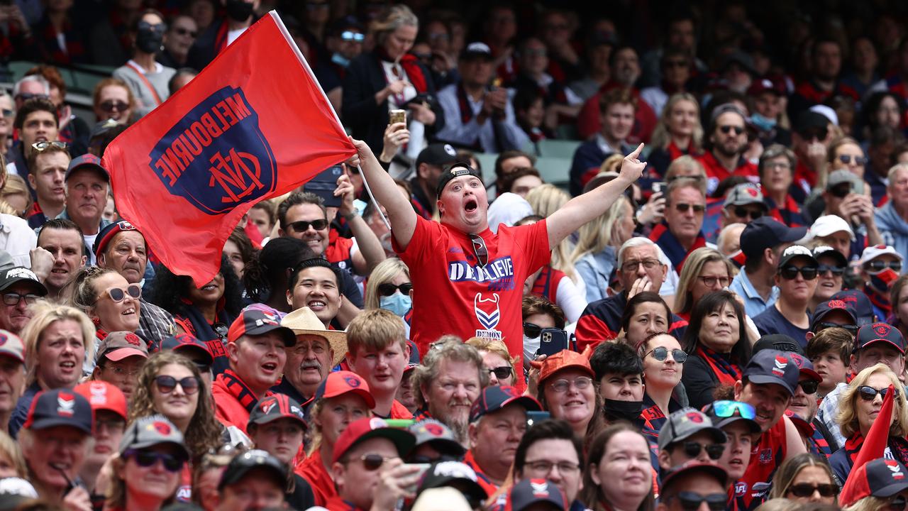
[{"label": "person in sunglasses, pale-topped cap and plain navy T-shirt at right", "polygon": [[817,266],[813,253],[801,245],[785,248],[775,274],[778,300],[754,316],[754,324],[761,336],[785,334],[797,343],[807,346],[810,314],[807,306],[816,288]]}]

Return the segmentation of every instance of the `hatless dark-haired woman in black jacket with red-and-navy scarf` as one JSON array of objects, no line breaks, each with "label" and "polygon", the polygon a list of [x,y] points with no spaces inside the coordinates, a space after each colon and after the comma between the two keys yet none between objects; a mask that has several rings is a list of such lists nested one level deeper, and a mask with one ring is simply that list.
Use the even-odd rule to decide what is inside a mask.
[{"label": "hatless dark-haired woman in black jacket with red-and-navy scarf", "polygon": [[713,402],[716,386],[734,386],[750,360],[744,307],[728,291],[707,293],[694,306],[681,341],[688,354],[681,381],[690,406]]}]

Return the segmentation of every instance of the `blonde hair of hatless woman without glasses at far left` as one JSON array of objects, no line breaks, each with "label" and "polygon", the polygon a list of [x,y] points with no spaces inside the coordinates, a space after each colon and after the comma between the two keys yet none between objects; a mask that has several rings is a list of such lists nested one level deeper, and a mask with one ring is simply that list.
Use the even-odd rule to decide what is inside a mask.
[{"label": "blonde hair of hatless woman without glasses at far left", "polygon": [[[29,306],[34,316],[22,330],[22,343],[25,345],[25,385],[35,384],[40,368],[38,349],[41,347],[41,336],[44,330],[57,321],[72,320],[79,324],[82,330],[82,342],[85,346],[85,357],[94,360],[94,325],[85,313],[72,306],[58,306],[45,300],[38,300]],[[83,361],[76,361],[76,366],[81,367]]]}]

